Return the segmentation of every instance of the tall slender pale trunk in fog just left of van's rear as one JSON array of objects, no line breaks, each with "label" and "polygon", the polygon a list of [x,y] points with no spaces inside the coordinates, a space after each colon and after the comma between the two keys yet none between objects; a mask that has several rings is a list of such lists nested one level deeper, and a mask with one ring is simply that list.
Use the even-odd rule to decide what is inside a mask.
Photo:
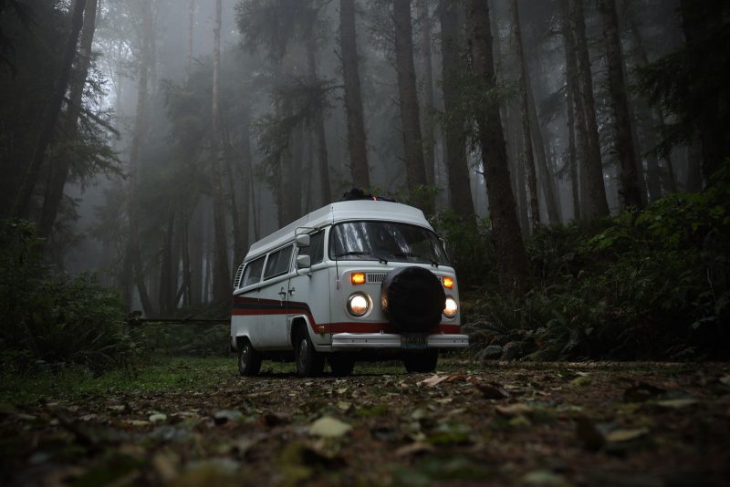
[{"label": "tall slender pale trunk in fog just left of van's rear", "polygon": [[223,133],[220,111],[221,70],[221,0],[215,0],[215,22],[213,27],[213,134],[211,140],[211,190],[213,193],[213,222],[215,235],[215,272],[213,278],[213,299],[215,302],[230,297],[231,274],[228,267],[228,243],[225,231],[225,202],[221,184],[221,166],[224,164]]}]

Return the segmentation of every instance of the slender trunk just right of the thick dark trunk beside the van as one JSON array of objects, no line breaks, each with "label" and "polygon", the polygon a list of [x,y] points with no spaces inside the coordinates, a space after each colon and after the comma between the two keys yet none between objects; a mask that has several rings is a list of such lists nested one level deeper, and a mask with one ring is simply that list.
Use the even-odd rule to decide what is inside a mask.
[{"label": "slender trunk just right of the thick dark trunk beside the van", "polygon": [[525,145],[524,162],[527,170],[527,188],[529,189],[530,224],[532,232],[540,228],[540,206],[537,200],[537,171],[535,171],[535,152],[532,148],[532,131],[530,130],[529,102],[527,101],[527,67],[525,66],[525,52],[522,47],[522,30],[519,25],[519,7],[517,0],[512,0],[512,28],[515,35],[517,55],[517,85],[520,92],[520,111],[522,115],[522,135]]}]

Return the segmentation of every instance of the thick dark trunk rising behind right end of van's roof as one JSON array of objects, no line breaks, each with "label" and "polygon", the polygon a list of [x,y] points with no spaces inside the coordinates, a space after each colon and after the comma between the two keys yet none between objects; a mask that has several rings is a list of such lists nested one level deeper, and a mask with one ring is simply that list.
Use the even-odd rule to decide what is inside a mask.
[{"label": "thick dark trunk rising behind right end of van's roof", "polygon": [[426,184],[426,170],[423,163],[421,117],[413,65],[410,0],[393,1],[393,20],[395,21],[395,65],[398,71],[406,181],[409,192],[414,194],[420,186]]}]

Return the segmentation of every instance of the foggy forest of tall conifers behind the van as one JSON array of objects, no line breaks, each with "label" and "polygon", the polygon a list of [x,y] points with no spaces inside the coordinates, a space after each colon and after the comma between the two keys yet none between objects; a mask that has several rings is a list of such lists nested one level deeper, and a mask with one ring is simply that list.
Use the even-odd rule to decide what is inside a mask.
[{"label": "foggy forest of tall conifers behind the van", "polygon": [[690,4],[5,0],[0,216],[147,315],[225,300],[250,244],[353,187],[524,262],[510,238],[701,191],[727,155],[726,114],[665,103],[652,64],[726,22]]}]

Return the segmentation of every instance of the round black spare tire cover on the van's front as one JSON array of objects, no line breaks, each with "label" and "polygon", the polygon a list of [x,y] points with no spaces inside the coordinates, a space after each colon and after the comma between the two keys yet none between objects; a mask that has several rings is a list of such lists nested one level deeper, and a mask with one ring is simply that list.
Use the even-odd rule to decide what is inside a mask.
[{"label": "round black spare tire cover on the van's front", "polygon": [[382,282],[381,305],[401,331],[427,331],[441,323],[446,295],[438,277],[423,267],[393,269]]}]

